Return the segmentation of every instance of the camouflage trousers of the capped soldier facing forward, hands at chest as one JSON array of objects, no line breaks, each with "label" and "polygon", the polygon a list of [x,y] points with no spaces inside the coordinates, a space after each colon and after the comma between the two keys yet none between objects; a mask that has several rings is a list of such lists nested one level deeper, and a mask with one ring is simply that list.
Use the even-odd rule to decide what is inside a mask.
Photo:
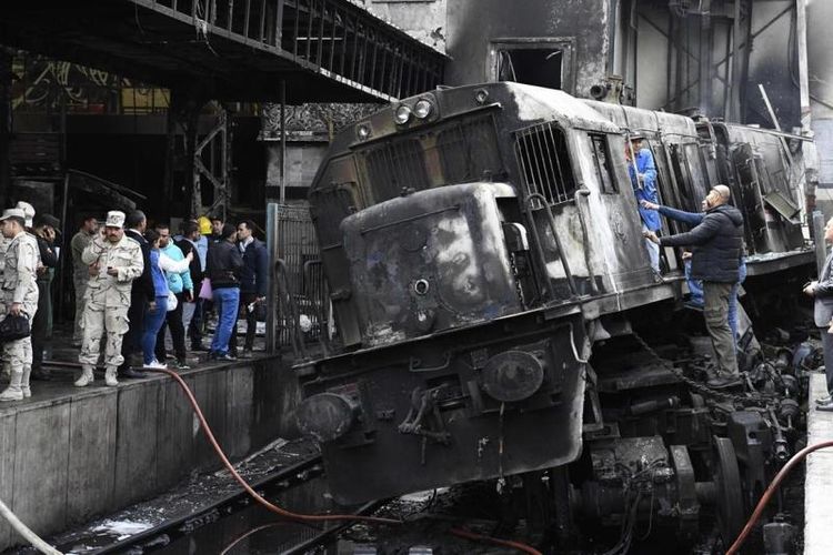
[{"label": "camouflage trousers of the capped soldier facing forward, hands at chest", "polygon": [[104,347],[104,364],[107,366],[120,366],[124,362],[121,355],[121,339],[128,331],[128,307],[106,306],[87,300],[83,316],[81,317],[83,341],[81,342],[81,354],[78,362],[94,366],[99,361],[101,351],[101,339],[107,334]]}]

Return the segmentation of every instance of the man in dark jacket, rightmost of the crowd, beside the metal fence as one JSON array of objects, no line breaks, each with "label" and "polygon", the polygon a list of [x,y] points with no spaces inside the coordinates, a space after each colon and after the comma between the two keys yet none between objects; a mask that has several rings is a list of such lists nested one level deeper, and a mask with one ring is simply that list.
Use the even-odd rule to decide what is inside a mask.
[{"label": "man in dark jacket, rightmost of the crowd, beside the metal fence", "polygon": [[[243,273],[240,279],[240,303],[245,311],[245,343],[243,359],[252,355],[254,333],[258,329],[257,306],[267,300],[267,281],[269,275],[269,253],[263,241],[255,239],[254,222],[244,220],[238,224],[238,249],[243,255]],[[237,351],[237,325],[231,335],[229,351]]]}]

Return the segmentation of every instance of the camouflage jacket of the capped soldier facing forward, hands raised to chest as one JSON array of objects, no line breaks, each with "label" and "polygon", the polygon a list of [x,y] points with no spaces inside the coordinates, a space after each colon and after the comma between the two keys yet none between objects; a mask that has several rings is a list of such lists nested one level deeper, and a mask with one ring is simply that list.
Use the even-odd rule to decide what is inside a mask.
[{"label": "camouflage jacket of the capped soldier facing forward, hands raised to chest", "polygon": [[[98,273],[90,275],[87,282],[88,300],[118,306],[123,304],[122,301],[127,295],[127,304],[123,306],[130,305],[132,282],[142,274],[144,269],[142,249],[139,243],[127,235],[122,236],[118,243],[111,243],[99,235],[83,250],[81,261],[87,266],[99,263]],[[108,268],[118,270],[118,275],[108,274]]]}]

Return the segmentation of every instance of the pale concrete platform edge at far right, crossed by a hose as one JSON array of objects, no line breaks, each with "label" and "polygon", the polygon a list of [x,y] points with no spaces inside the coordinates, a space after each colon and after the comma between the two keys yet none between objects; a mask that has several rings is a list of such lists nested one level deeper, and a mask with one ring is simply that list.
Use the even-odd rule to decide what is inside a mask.
[{"label": "pale concrete platform edge at far right, crossed by a hose", "polygon": [[[827,394],[824,374],[810,379],[807,445],[833,440],[833,413],[815,410],[815,400]],[[833,553],[833,448],[807,456],[804,482],[804,554]]]}]

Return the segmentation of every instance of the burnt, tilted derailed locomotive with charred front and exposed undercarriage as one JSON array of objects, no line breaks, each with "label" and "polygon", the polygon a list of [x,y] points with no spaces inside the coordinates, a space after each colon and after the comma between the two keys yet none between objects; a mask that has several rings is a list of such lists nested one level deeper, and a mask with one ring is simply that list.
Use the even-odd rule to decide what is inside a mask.
[{"label": "burnt, tilted derailed locomotive with charred front and exposed undercarriage", "polygon": [[678,312],[681,253],[650,268],[634,134],[662,203],[699,211],[730,185],[750,283],[810,272],[799,138],[489,83],[334,139],[310,204],[342,349],[294,371],[337,500],[545,473],[564,545],[572,522],[652,512],[692,536],[711,506],[739,529],[790,452],[800,381],[786,355],[752,359],[725,395],[665,356],[694,319]]}]

